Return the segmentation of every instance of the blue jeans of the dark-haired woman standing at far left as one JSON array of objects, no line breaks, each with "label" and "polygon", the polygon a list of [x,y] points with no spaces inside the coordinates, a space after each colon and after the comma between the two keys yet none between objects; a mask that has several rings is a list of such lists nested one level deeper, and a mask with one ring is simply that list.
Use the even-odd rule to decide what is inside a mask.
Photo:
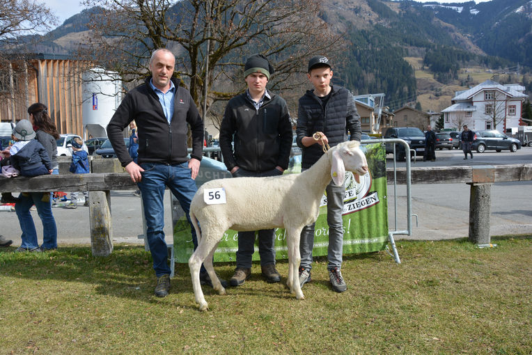
[{"label": "blue jeans of the dark-haired woman standing at far left", "polygon": [[33,218],[29,212],[33,205],[36,205],[37,213],[42,222],[42,248],[57,248],[57,227],[52,214],[49,192],[22,192],[15,203],[15,212],[17,212],[22,230],[22,244],[20,246],[30,249],[39,246],[35,223],[33,223]]}]

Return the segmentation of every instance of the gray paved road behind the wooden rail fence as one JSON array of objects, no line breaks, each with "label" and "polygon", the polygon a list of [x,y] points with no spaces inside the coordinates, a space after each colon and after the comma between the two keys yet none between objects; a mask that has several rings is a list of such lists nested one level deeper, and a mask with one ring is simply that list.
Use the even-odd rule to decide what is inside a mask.
[{"label": "gray paved road behind the wooden rail fence", "polygon": [[[418,161],[413,166],[462,166],[484,164],[532,163],[532,148],[523,148],[516,153],[485,152],[474,154],[473,160],[462,160],[460,150],[437,151],[437,161]],[[388,155],[387,164],[393,161]],[[398,163],[404,166],[405,163]],[[491,235],[511,233],[532,235],[532,182],[506,182],[492,186]],[[111,209],[114,242],[141,244],[138,235],[142,232],[140,199],[133,191],[112,191]],[[395,229],[393,186],[388,187],[389,229]],[[398,186],[398,230],[406,229],[406,189]],[[467,184],[414,184],[412,186],[413,213],[418,214],[418,226],[414,219],[412,236],[398,236],[396,239],[453,239],[467,237],[469,232],[469,185]],[[37,213],[38,235],[42,228]],[[89,244],[88,207],[79,206],[76,210],[54,208],[58,226],[58,243]],[[166,235],[171,236],[171,213],[169,192],[165,201]],[[0,212],[0,233],[20,245],[20,228],[14,212]],[[42,237],[40,237],[42,238]],[[170,239],[171,237],[167,237]],[[41,240],[41,239],[40,239]]]}]

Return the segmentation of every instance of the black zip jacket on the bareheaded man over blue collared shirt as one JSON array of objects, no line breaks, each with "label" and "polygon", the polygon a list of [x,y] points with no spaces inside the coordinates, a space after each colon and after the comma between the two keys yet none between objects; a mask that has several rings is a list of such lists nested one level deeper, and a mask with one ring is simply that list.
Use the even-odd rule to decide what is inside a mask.
[{"label": "black zip jacket on the bareheaded man over blue collared shirt", "polygon": [[159,97],[150,86],[151,77],[125,95],[114,113],[107,136],[122,166],[133,161],[124,143],[123,130],[132,120],[139,127],[139,164],[180,164],[187,158],[187,123],[192,132],[191,157],[201,160],[203,150],[203,120],[188,90],[175,85],[173,116],[168,123]]}]

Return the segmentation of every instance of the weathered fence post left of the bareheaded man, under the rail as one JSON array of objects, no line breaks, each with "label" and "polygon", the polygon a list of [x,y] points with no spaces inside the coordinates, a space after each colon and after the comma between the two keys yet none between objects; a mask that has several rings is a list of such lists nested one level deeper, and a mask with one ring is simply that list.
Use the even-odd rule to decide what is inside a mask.
[{"label": "weathered fence post left of the bareheaded man, under the rail", "polygon": [[88,217],[91,221],[91,250],[93,256],[109,256],[113,251],[110,191],[88,193]]}]

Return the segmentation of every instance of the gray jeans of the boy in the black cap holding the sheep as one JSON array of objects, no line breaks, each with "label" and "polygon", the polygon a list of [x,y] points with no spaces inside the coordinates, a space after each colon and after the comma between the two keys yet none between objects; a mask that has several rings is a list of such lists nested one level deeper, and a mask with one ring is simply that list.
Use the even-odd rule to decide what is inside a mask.
[{"label": "gray jeans of the boy in the black cap holding the sheep", "polygon": [[[325,189],[327,192],[327,224],[329,225],[329,247],[327,249],[327,269],[342,266],[343,253],[343,198],[345,186],[338,187],[330,182]],[[301,254],[301,267],[312,269],[312,249],[314,247],[315,223],[304,226],[301,231],[299,253]]]}]

